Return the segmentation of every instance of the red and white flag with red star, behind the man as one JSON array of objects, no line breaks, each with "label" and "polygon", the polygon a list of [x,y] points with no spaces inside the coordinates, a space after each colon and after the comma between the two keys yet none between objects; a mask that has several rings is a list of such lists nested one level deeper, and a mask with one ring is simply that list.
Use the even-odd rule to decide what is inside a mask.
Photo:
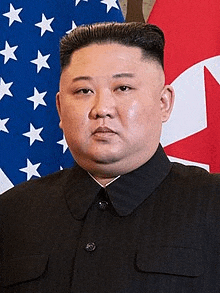
[{"label": "red and white flag with red star, behind the man", "polygon": [[165,73],[176,93],[162,144],[172,160],[220,172],[219,0],[157,0],[148,19],[165,33]]}]

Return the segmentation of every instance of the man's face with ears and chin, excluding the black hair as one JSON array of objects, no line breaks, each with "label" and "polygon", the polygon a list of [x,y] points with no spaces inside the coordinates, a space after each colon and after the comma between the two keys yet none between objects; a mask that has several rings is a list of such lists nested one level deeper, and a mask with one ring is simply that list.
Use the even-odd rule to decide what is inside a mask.
[{"label": "man's face with ears and chin, excluding the black hair", "polygon": [[141,166],[158,147],[172,94],[161,66],[143,59],[139,48],[92,44],[74,52],[57,94],[74,159],[95,176]]}]

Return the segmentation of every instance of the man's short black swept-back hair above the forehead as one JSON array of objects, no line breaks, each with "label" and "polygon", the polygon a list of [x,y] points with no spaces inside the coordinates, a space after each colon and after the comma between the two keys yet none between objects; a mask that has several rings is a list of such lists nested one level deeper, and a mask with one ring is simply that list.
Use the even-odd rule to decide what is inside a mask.
[{"label": "man's short black swept-back hair above the forehead", "polygon": [[164,68],[164,34],[152,24],[97,23],[75,28],[60,42],[61,71],[69,65],[71,55],[91,44],[117,43],[127,47],[138,47],[145,59],[157,61]]}]

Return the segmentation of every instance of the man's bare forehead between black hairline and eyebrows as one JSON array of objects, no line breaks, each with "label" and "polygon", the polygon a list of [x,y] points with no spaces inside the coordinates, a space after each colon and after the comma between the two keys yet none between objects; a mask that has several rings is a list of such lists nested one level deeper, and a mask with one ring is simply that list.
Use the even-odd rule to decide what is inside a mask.
[{"label": "man's bare forehead between black hairline and eyebrows", "polygon": [[112,76],[121,72],[137,76],[161,73],[157,61],[143,58],[139,47],[118,43],[91,44],[75,51],[63,75]]}]

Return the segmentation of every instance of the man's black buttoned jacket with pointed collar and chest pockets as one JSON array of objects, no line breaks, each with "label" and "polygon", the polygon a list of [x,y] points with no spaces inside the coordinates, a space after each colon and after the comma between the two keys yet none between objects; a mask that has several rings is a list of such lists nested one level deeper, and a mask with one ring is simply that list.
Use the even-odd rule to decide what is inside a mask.
[{"label": "man's black buttoned jacket with pointed collar and chest pockets", "polygon": [[78,166],[21,184],[0,199],[0,292],[220,292],[219,195],[161,148],[106,190]]}]

